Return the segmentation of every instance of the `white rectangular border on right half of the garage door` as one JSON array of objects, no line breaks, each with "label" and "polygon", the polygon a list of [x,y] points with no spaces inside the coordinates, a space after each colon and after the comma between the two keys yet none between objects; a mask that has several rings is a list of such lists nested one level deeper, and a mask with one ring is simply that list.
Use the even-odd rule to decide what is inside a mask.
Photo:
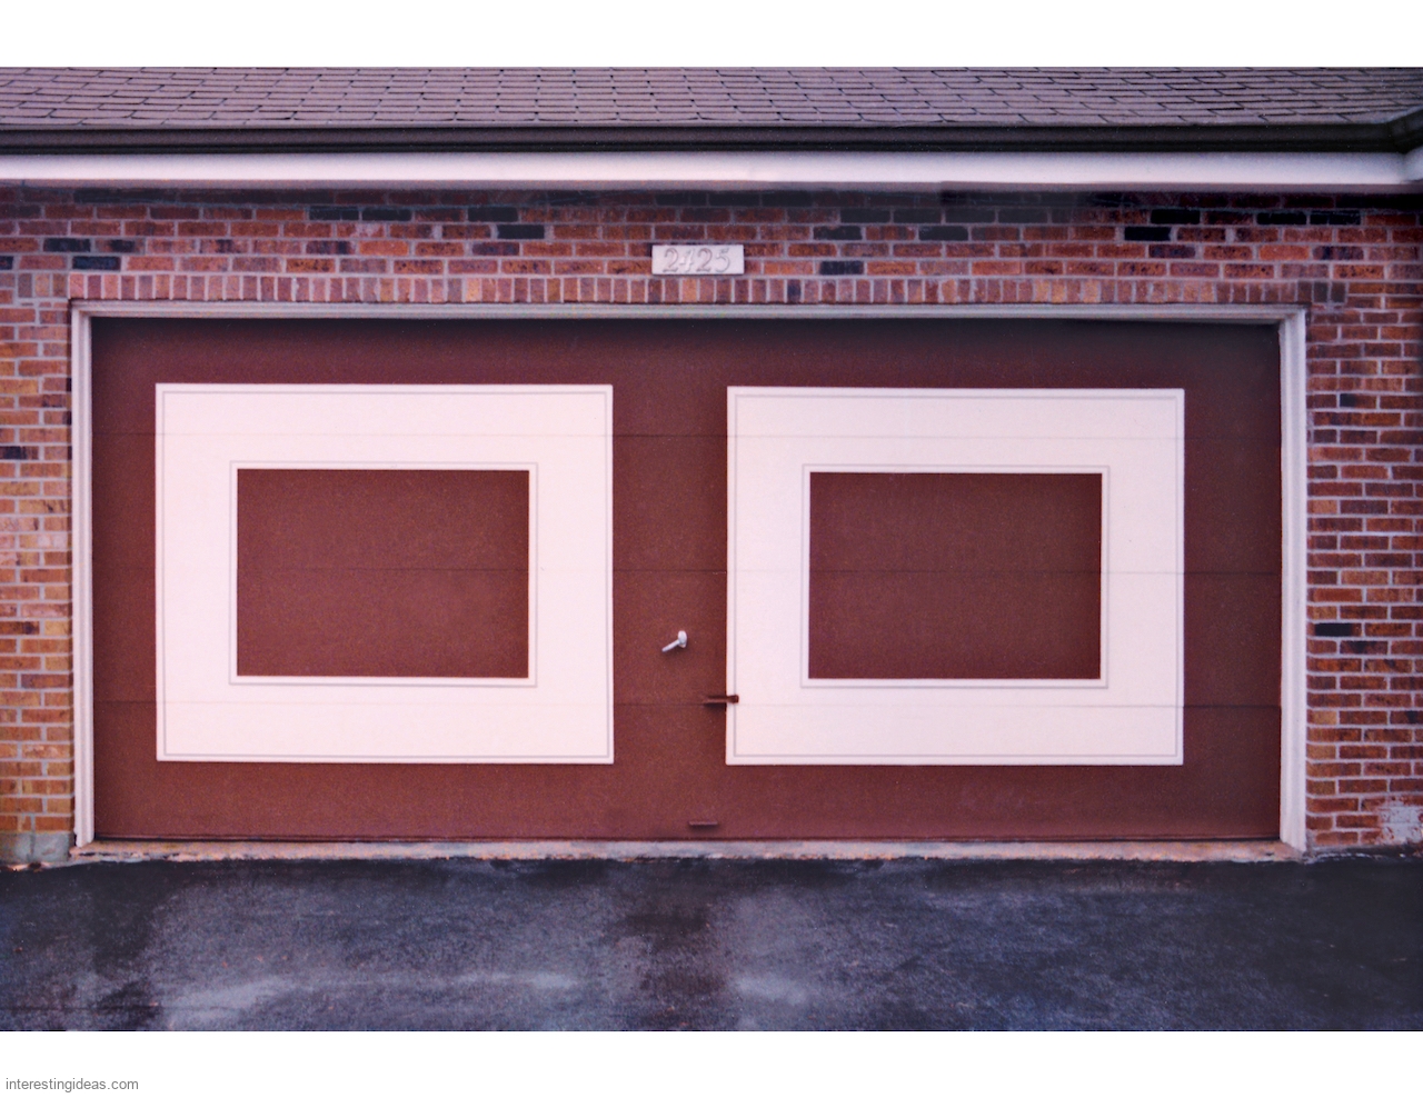
[{"label": "white rectangular border on right half of the garage door", "polygon": [[[1181,390],[730,388],[727,761],[1178,765],[1184,408]],[[1100,476],[1097,673],[813,677],[811,485],[837,472]]]}]

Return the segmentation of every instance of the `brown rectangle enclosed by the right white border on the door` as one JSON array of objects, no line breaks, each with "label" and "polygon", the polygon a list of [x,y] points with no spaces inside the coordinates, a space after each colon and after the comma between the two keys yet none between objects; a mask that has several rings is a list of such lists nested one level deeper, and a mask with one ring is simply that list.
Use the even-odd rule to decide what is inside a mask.
[{"label": "brown rectangle enclosed by the right white border on the door", "polygon": [[1100,474],[811,474],[811,678],[1100,670]]}]

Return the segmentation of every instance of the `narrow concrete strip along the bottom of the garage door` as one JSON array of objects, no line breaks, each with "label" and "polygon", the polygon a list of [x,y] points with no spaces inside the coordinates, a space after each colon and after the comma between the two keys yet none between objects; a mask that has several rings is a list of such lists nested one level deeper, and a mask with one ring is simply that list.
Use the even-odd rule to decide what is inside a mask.
[{"label": "narrow concrete strip along the bottom of the garage door", "polygon": [[[65,852],[70,863],[222,860],[1107,860],[1107,862],[1298,862],[1301,851],[1269,841],[1202,842],[175,842],[97,839]],[[58,862],[60,859],[33,859]]]}]

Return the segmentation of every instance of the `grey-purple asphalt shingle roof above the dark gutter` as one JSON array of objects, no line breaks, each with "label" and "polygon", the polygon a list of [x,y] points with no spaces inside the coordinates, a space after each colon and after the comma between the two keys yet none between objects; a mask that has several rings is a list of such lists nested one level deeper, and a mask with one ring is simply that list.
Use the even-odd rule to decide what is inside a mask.
[{"label": "grey-purple asphalt shingle roof above the dark gutter", "polygon": [[564,131],[852,144],[915,131],[932,144],[989,131],[1298,129],[1412,146],[1420,111],[1423,68],[0,68],[10,145],[21,132],[88,144],[98,131],[129,144],[179,131],[400,131],[407,144]]}]

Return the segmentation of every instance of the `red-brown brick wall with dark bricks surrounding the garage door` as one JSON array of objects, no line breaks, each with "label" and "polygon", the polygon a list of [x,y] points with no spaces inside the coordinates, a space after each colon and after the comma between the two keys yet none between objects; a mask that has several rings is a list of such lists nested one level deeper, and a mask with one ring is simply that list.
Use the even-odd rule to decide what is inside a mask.
[{"label": "red-brown brick wall with dark bricks surrounding the garage door", "polygon": [[[1033,302],[1309,307],[1311,842],[1417,842],[1420,210],[1328,195],[0,188],[0,835],[73,826],[70,300]],[[652,277],[652,242],[702,239],[744,243],[746,276]]]}]

